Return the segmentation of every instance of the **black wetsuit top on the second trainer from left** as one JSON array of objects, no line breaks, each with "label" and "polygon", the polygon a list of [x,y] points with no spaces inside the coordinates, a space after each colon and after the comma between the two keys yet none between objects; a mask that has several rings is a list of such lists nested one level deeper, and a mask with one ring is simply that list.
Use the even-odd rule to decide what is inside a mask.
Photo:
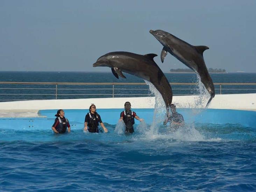
[{"label": "black wetsuit top on the second trainer from left", "polygon": [[[90,117],[91,114],[91,117]],[[99,123],[102,123],[98,113],[87,113],[84,122],[87,122],[88,131],[91,133],[99,133]]]}]

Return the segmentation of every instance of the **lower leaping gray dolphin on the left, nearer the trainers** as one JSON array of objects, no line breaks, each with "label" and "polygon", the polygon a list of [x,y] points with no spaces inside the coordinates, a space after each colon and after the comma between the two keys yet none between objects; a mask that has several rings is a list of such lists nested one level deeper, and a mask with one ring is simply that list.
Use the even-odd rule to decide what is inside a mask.
[{"label": "lower leaping gray dolphin on the left, nearer the trainers", "polygon": [[98,58],[94,67],[110,67],[116,78],[126,78],[122,72],[150,81],[161,93],[167,113],[172,103],[172,88],[154,61],[156,54],[138,55],[130,52],[110,52]]}]

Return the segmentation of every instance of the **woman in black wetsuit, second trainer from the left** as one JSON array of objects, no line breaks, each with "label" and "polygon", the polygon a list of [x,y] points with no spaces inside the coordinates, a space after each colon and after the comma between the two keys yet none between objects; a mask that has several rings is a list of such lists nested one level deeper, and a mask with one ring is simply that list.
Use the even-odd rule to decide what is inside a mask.
[{"label": "woman in black wetsuit, second trainer from the left", "polygon": [[100,115],[96,112],[96,106],[92,104],[89,107],[89,113],[87,113],[85,116],[84,130],[88,130],[91,133],[99,133],[99,123],[100,126],[104,129],[104,132],[107,133],[107,128],[102,123]]}]

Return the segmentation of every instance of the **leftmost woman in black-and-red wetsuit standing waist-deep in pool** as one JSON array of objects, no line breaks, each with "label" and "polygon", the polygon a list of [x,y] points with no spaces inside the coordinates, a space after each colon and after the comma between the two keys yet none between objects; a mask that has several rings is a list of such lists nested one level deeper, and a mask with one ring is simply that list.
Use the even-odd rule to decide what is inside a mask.
[{"label": "leftmost woman in black-and-red wetsuit standing waist-deep in pool", "polygon": [[66,130],[70,132],[70,124],[69,120],[64,117],[65,113],[62,109],[57,111],[56,119],[54,121],[54,125],[52,125],[52,130],[54,133],[65,133]]}]

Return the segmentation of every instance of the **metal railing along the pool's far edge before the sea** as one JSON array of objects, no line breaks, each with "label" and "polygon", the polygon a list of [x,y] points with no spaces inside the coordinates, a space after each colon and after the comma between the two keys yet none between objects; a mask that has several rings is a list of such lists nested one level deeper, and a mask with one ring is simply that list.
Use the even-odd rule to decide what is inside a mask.
[{"label": "metal railing along the pool's far edge before the sea", "polygon": [[[173,95],[197,94],[197,83],[170,83]],[[256,83],[214,83],[216,94],[256,93]],[[88,93],[89,92],[89,93]],[[145,83],[0,82],[0,101],[154,96]]]}]

